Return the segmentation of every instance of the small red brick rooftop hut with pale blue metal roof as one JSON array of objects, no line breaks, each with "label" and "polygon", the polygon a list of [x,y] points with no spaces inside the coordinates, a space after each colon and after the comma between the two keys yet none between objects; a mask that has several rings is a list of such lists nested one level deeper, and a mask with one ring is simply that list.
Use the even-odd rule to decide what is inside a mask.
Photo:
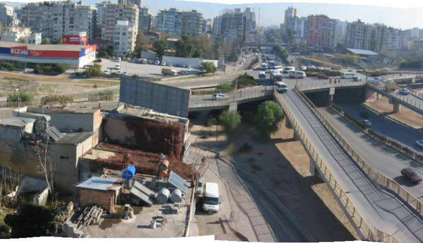
[{"label": "small red brick rooftop hut with pale blue metal roof", "polygon": [[76,186],[79,194],[79,205],[85,207],[98,205],[113,212],[122,180],[93,176]]}]

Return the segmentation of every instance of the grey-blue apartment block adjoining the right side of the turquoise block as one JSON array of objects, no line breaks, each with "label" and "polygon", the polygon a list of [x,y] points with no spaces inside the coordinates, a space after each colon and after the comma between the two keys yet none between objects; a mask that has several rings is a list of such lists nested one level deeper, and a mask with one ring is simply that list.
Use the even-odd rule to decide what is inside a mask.
[{"label": "grey-blue apartment block adjoining the right side of the turquoise block", "polygon": [[181,35],[188,35],[195,38],[203,33],[203,14],[196,10],[182,12]]}]

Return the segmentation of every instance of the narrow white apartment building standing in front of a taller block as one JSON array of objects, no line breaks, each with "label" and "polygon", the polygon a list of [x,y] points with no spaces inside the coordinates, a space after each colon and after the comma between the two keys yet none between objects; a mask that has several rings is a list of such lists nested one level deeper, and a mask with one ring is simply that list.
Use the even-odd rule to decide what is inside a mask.
[{"label": "narrow white apartment building standing in front of a taller block", "polygon": [[137,28],[133,24],[129,24],[128,20],[117,20],[113,39],[117,56],[125,56],[134,51]]}]

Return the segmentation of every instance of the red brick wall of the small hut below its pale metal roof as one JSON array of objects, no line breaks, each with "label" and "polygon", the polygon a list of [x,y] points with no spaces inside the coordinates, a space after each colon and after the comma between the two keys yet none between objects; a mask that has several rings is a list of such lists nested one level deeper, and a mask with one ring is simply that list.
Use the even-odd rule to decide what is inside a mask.
[{"label": "red brick wall of the small hut below its pale metal roof", "polygon": [[90,190],[86,188],[79,189],[79,205],[84,207],[87,205],[98,205],[107,211],[112,212],[114,209],[114,198],[116,191],[100,191]]}]

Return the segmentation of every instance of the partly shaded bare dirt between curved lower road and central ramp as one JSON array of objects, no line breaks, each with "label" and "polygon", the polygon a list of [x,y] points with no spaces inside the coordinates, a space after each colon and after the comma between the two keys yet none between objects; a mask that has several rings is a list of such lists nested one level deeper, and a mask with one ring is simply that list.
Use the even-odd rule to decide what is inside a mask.
[{"label": "partly shaded bare dirt between curved lower road and central ramp", "polygon": [[[293,139],[293,130],[285,128],[284,121],[282,124],[269,140],[258,139],[254,127],[241,124],[226,142],[226,151],[232,151],[237,164],[261,178],[317,241],[359,239],[327,186],[309,172],[310,159],[300,141]],[[216,141],[215,132],[210,133],[208,128],[202,131],[210,137],[199,140]],[[220,133],[218,140],[222,137]],[[240,153],[246,142],[251,150]]]}]

